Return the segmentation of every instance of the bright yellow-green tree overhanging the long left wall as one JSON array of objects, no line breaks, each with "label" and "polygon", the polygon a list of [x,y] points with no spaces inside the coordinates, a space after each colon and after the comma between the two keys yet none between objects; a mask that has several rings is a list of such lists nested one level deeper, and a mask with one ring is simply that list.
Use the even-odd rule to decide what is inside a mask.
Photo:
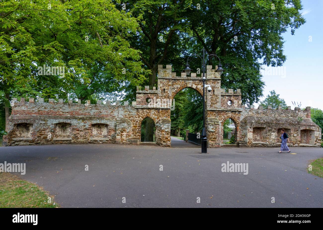
[{"label": "bright yellow-green tree overhanging the long left wall", "polygon": [[[110,0],[0,2],[6,119],[13,96],[92,99],[141,84],[140,52],[128,42],[138,29]],[[64,77],[39,74],[43,65],[64,67]]]}]

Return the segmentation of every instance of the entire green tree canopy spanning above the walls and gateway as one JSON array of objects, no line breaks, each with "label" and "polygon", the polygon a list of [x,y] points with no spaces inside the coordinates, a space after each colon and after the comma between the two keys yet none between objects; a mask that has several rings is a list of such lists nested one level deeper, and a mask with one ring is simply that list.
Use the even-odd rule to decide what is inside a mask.
[{"label": "entire green tree canopy spanning above the walls and gateway", "polygon": [[[282,34],[305,23],[301,9],[300,0],[1,1],[0,104],[7,118],[12,97],[131,101],[136,85],[157,86],[158,65],[181,72],[202,47],[221,59],[221,87],[241,88],[253,104],[263,95],[260,66],[284,63]],[[64,76],[39,74],[44,65]]]}]

